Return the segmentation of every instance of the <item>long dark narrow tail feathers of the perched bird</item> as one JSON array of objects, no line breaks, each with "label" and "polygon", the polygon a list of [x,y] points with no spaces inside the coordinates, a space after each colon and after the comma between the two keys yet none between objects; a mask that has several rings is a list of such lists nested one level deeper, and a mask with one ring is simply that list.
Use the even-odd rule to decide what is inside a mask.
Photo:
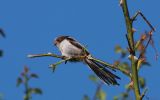
[{"label": "long dark narrow tail feathers of the perched bird", "polygon": [[95,72],[95,74],[103,80],[108,85],[119,85],[116,79],[120,79],[120,77],[111,73],[105,66],[99,64],[98,62],[86,58],[84,62]]}]

